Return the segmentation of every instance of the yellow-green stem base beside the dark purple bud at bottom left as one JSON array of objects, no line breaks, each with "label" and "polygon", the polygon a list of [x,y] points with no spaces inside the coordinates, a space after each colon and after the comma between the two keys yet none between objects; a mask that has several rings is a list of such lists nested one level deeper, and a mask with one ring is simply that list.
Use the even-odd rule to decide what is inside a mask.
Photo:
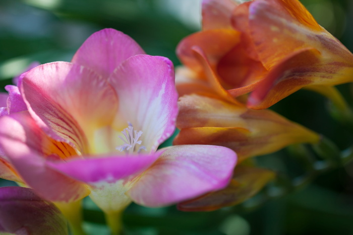
[{"label": "yellow-green stem base beside the dark purple bud at bottom left", "polygon": [[81,200],[70,203],[55,202],[55,205],[62,211],[69,222],[73,235],[86,235],[82,228],[82,206]]}]

